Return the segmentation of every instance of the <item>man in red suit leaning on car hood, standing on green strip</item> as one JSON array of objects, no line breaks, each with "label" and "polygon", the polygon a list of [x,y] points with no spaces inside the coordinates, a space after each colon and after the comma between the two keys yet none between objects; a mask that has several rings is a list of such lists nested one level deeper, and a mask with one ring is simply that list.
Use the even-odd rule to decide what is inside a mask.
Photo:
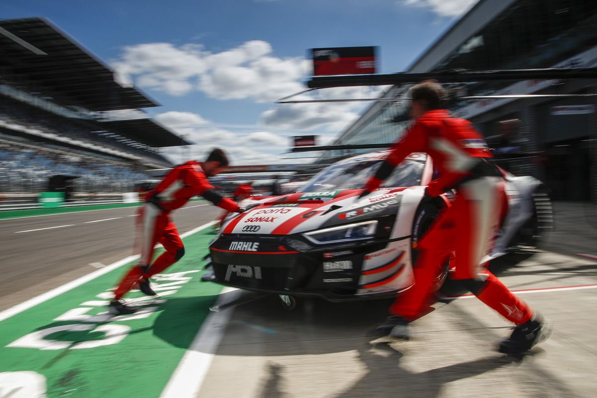
[{"label": "man in red suit leaning on car hood, standing on green strip", "polygon": [[[139,264],[124,276],[114,293],[109,309],[114,313],[130,314],[135,308],[123,303],[122,296],[134,286],[149,296],[156,293],[149,285],[149,278],[170,267],[184,255],[184,245],[170,213],[184,206],[190,198],[201,195],[227,211],[242,212],[244,209],[231,199],[224,198],[207,180],[226,169],[228,159],[221,149],[214,149],[203,163],[189,161],[174,167],[164,180],[147,194],[141,209],[141,258]],[[153,260],[153,248],[161,243],[166,250]]]}]

